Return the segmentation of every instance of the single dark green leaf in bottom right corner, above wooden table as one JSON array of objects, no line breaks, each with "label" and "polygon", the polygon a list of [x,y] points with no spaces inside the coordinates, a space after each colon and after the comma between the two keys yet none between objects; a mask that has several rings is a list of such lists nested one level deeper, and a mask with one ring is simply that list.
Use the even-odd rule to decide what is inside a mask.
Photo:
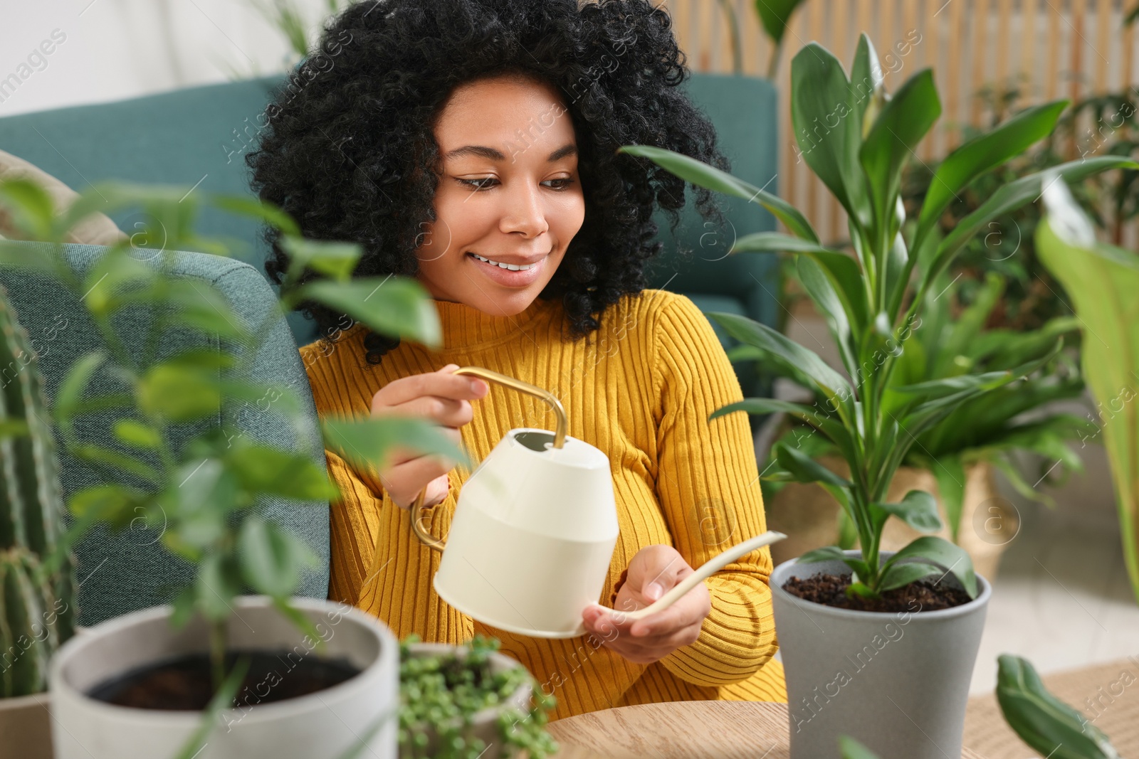
[{"label": "single dark green leaf in bottom right corner, above wooden table", "polygon": [[1021,740],[1051,759],[1120,759],[1087,717],[1049,693],[1027,659],[997,658],[997,703]]}]

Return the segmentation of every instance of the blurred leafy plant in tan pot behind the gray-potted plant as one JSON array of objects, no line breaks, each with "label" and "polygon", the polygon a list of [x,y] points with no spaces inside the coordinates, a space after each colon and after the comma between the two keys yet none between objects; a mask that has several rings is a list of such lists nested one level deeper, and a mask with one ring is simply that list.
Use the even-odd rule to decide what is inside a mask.
[{"label": "blurred leafy plant in tan pot behind the gray-potted plant", "polygon": [[[909,336],[887,388],[967,372],[1014,369],[1042,357],[1057,337],[1067,339],[1079,330],[1079,320],[1073,316],[1055,317],[1038,330],[985,329],[1005,289],[1005,280],[993,272],[973,303],[954,319],[950,307],[953,283],[948,273],[939,279],[926,294],[920,324]],[[994,469],[1003,471],[1018,493],[1049,505],[1055,505],[1051,498],[1023,479],[1009,454],[1031,452],[1047,457],[1042,467],[1046,471],[1033,477],[1035,484],[1082,469],[1079,453],[1066,440],[1091,436],[1093,426],[1074,414],[1049,410],[1055,401],[1083,393],[1074,353],[1074,348],[1066,348],[1023,382],[966,401],[916,436],[891,482],[890,501],[913,489],[933,493],[942,519],[937,534],[964,547],[974,569],[990,580],[1001,553],[1019,529],[1016,511],[997,490]],[[769,464],[776,461],[778,446],[790,445],[809,449],[812,457],[841,477],[849,476],[834,445],[821,436],[809,439],[814,437],[813,428],[802,422],[788,428],[772,446]],[[772,482],[764,488],[764,498],[772,529],[795,535],[782,542],[790,545],[772,546],[777,563],[833,543],[849,548],[858,539],[845,512],[818,485]],[[891,520],[884,528],[882,545],[896,551],[917,537],[917,530],[906,522]]]}]

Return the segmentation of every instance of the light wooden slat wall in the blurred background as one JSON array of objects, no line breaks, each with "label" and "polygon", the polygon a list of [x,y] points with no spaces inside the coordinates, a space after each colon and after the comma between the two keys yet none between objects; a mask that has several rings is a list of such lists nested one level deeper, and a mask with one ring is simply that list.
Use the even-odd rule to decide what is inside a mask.
[{"label": "light wooden slat wall in the blurred background", "polygon": [[[754,0],[731,2],[741,27],[744,73],[765,75],[771,44]],[[694,71],[731,73],[730,34],[719,0],[661,5],[672,15]],[[1132,0],[808,0],[785,36],[776,77],[780,195],[804,211],[825,240],[846,237],[842,208],[793,149],[790,59],[806,42],[828,48],[849,69],[859,33],[868,32],[891,90],[933,66],[943,113],[917,150],[921,160],[932,160],[960,145],[964,125],[982,118],[982,104],[974,97],[982,86],[1019,83],[1024,96],[1017,105],[1024,106],[1139,83],[1136,27],[1123,31],[1123,15],[1132,6]],[[1077,151],[1075,145],[1067,149]],[[1139,224],[1131,224],[1121,242],[1139,249]]]}]

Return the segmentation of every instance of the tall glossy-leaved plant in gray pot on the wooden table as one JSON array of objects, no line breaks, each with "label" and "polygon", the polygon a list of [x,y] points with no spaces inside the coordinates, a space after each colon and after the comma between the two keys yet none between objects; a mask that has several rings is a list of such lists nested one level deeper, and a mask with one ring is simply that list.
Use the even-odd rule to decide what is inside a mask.
[{"label": "tall glossy-leaved plant in gray pot on the wooden table", "polygon": [[[1000,188],[943,239],[937,218],[980,173],[1048,134],[1064,107],[1030,108],[954,150],[939,167],[918,218],[909,223],[899,198],[901,172],[941,115],[933,73],[910,77],[892,97],[869,39],[859,41],[852,76],[819,44],[792,63],[792,122],[804,160],[846,209],[853,255],[822,245],[806,218],[786,201],[712,166],[648,146],[624,146],[695,184],[744,197],[775,214],[790,234],[741,238],[743,250],[796,256],[800,279],[826,320],[846,370],[746,317],[711,314],[738,340],[755,346],[781,373],[825,401],[808,406],[748,398],[718,410],[787,412],[814,427],[847,462],[841,477],[795,447],[779,451],[780,476],[826,488],[854,525],[858,552],[829,546],[785,562],[771,575],[776,627],[782,646],[790,719],[790,756],[833,756],[839,735],[865,742],[890,759],[956,756],[969,677],[980,644],[990,586],[968,554],[925,535],[898,552],[882,551],[890,518],[923,533],[941,527],[933,497],[921,490],[901,501],[885,496],[917,436],[966,401],[1031,376],[1059,352],[1011,370],[967,372],[890,386],[926,292],[953,255],[995,214],[1040,195],[1042,176]],[[1059,167],[1079,179],[1132,166],[1121,158],[1089,158]],[[915,279],[911,282],[911,279]]]}]

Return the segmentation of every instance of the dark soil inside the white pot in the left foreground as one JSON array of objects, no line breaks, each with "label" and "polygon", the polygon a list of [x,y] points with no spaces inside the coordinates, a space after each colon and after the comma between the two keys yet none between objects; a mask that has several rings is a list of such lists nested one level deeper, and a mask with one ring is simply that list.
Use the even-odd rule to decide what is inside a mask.
[{"label": "dark soil inside the white pot in the left foreground", "polygon": [[[229,671],[238,657],[251,658],[233,706],[248,708],[323,691],[360,674],[346,659],[297,658],[293,651],[231,651]],[[290,658],[292,657],[292,658]],[[213,696],[210,657],[188,654],[129,671],[100,683],[88,695],[136,709],[202,711]]]}]

